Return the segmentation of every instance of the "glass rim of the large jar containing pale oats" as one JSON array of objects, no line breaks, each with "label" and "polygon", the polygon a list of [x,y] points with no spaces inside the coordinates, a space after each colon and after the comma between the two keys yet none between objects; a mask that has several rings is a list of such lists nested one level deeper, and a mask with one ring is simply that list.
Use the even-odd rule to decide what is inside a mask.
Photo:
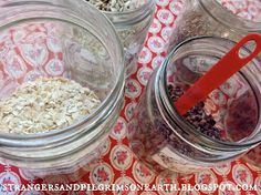
[{"label": "glass rim of the large jar containing pale oats", "polygon": [[[18,1],[18,4],[15,4],[14,1],[12,1],[10,3],[11,3],[12,7],[21,6],[19,3],[19,1]],[[67,8],[64,7],[64,4],[62,7],[60,7],[61,4],[56,4],[53,1],[51,1],[51,3],[49,3],[49,4],[46,4],[44,0],[43,1],[42,0],[33,1],[29,4],[27,4],[27,9],[28,10],[31,9],[31,11],[35,11],[35,8],[34,8],[35,4],[36,6],[51,7],[51,8],[55,8],[55,9],[62,9],[62,13],[67,14],[67,12],[64,11]],[[1,7],[6,7],[6,6],[9,6],[9,3],[7,2],[6,4],[1,4]],[[102,14],[98,10],[92,9],[92,7],[88,6],[87,3],[82,3],[81,7],[85,7],[85,9],[92,10],[93,12],[95,12],[100,17],[100,19],[102,21],[104,21],[107,24],[107,27],[109,27],[109,29],[113,32],[113,35],[111,34],[111,38],[113,38],[114,41],[116,42],[117,48],[118,48],[118,50],[117,50],[118,53],[117,54],[121,57],[117,60],[117,63],[121,66],[118,68],[118,70],[119,70],[118,71],[118,76],[116,78],[116,82],[115,82],[114,86],[109,91],[106,99],[102,102],[102,104],[94,112],[92,112],[90,115],[84,116],[81,121],[79,121],[79,122],[76,122],[76,123],[74,123],[70,126],[66,126],[64,129],[59,129],[59,130],[54,130],[54,131],[50,131],[50,132],[41,132],[41,133],[35,133],[35,134],[11,134],[11,133],[1,133],[0,132],[1,145],[4,145],[4,146],[22,146],[22,147],[38,147],[38,146],[45,145],[48,143],[55,143],[58,141],[62,141],[62,140],[66,138],[66,136],[70,136],[69,135],[70,133],[72,133],[72,135],[75,135],[75,132],[74,132],[75,129],[81,129],[86,123],[94,123],[93,125],[96,125],[97,122],[94,122],[95,116],[97,116],[102,113],[102,116],[100,116],[100,121],[98,121],[98,123],[101,123],[101,121],[104,121],[104,120],[107,119],[107,116],[109,114],[108,109],[117,106],[117,103],[119,102],[119,98],[122,96],[121,94],[123,94],[124,83],[125,83],[123,45],[121,43],[121,40],[119,40],[119,38],[117,35],[117,32],[116,32],[115,28],[113,27],[112,22],[104,14]],[[20,10],[21,10],[21,12],[23,11],[22,9],[20,9]],[[72,9],[70,9],[70,10],[72,11]],[[72,14],[70,17],[72,17]],[[79,19],[79,17],[75,17],[75,18]],[[34,16],[33,20],[35,20],[35,19],[36,19],[36,17]],[[50,18],[44,18],[44,16],[42,16],[39,19],[51,19],[51,17]],[[20,20],[23,20],[23,19],[17,18],[15,21],[14,22],[12,21],[11,23],[15,23]],[[59,18],[56,18],[55,20],[59,20]],[[61,21],[73,23],[69,19],[63,19]],[[6,23],[3,25],[1,25],[0,28],[2,28],[4,25],[6,25]],[[77,23],[77,25],[79,25],[79,23]],[[86,28],[84,28],[84,29],[86,29]],[[117,95],[119,95],[119,96],[117,96]],[[106,111],[107,111],[107,113],[106,113]],[[93,126],[91,126],[91,127],[93,127]],[[81,129],[81,130],[84,131],[84,129]],[[62,137],[60,137],[61,135],[62,135]],[[52,137],[52,138],[50,138],[50,137]],[[40,141],[40,142],[35,142],[35,141]],[[45,141],[45,142],[43,142],[43,141]]]}]

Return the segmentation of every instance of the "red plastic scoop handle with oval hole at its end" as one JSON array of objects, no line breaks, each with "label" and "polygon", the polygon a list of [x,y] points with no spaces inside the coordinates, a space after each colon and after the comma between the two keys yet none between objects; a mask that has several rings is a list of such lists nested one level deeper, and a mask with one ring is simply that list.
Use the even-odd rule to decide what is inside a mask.
[{"label": "red plastic scoop handle with oval hole at its end", "polygon": [[[254,50],[246,58],[239,57],[240,49],[249,41],[255,42]],[[261,34],[251,33],[239,41],[217,64],[202,75],[182,96],[175,103],[178,112],[182,115],[200,101],[205,100],[210,92],[219,88],[231,75],[243,68],[261,51]]]}]

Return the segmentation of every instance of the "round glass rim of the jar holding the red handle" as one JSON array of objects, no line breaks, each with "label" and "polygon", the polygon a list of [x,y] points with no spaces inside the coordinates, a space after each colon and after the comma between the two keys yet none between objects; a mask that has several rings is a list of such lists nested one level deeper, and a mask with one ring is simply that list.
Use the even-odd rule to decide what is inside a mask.
[{"label": "round glass rim of the jar holding the red handle", "polygon": [[[207,35],[203,35],[203,37],[195,37],[195,38],[190,38],[190,39],[187,39],[185,41],[182,41],[181,43],[179,43],[169,54],[168,57],[165,59],[165,61],[163,62],[161,66],[159,68],[159,71],[158,71],[158,75],[160,78],[160,75],[163,75],[163,78],[160,78],[158,80],[158,84],[159,84],[159,93],[158,95],[160,95],[164,100],[166,100],[166,112],[171,116],[170,120],[175,120],[176,123],[178,121],[178,125],[179,126],[185,126],[184,130],[187,132],[187,133],[192,133],[194,135],[197,136],[197,138],[199,138],[202,143],[210,143],[211,145],[213,145],[215,147],[218,147],[218,148],[223,148],[225,146],[229,150],[239,150],[239,148],[246,148],[248,146],[253,146],[253,145],[257,145],[258,143],[261,142],[261,137],[259,137],[258,140],[254,140],[254,141],[242,141],[242,142],[226,142],[226,141],[220,141],[220,140],[217,140],[217,138],[212,138],[199,131],[196,131],[196,129],[189,123],[187,122],[186,120],[184,120],[184,117],[178,113],[177,109],[175,107],[175,105],[171,103],[171,99],[167,92],[167,66],[170,62],[170,60],[173,59],[173,57],[176,54],[176,52],[185,44],[189,43],[189,42],[192,42],[192,41],[197,41],[197,40],[216,40],[216,42],[226,42],[227,44],[231,44],[231,45],[234,45],[236,42],[234,41],[231,41],[231,40],[228,40],[228,39],[225,39],[225,38],[218,38],[218,37],[207,37]],[[247,48],[244,48],[247,51],[249,51]],[[247,69],[247,68],[246,68]],[[242,74],[242,73],[241,73]],[[260,111],[259,111],[260,112]],[[169,119],[169,117],[168,117]],[[168,120],[165,117],[165,120]],[[258,124],[257,126],[254,127],[254,131],[255,132],[257,130],[261,130],[261,117],[260,117],[260,114],[259,114],[259,120],[258,120]],[[209,144],[208,144],[209,145]]]}]

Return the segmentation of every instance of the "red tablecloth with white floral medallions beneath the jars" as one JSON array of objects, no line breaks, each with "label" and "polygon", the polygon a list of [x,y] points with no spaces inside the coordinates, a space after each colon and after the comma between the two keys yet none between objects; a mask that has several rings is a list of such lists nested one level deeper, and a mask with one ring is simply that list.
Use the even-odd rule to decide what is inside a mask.
[{"label": "red tablecloth with white floral medallions beneath the jars", "polygon": [[[252,14],[260,14],[261,8],[254,6],[255,0],[249,0],[248,3],[242,2],[241,0],[233,1],[241,3],[241,14],[247,16],[248,18],[253,18]],[[126,125],[130,119],[134,107],[138,103],[139,95],[144,90],[153,70],[161,64],[165,59],[165,45],[168,41],[168,37],[175,28],[175,20],[182,8],[182,3],[179,0],[156,0],[157,2],[157,12],[155,14],[154,22],[149,29],[146,44],[140,53],[139,63],[135,68],[135,73],[126,83],[126,94],[125,103],[122,110],[121,116],[117,121],[115,129],[112,131],[109,137],[106,140],[106,146],[103,150],[103,156],[92,163],[86,165],[76,173],[70,175],[56,175],[48,176],[45,178],[35,178],[30,173],[20,170],[10,165],[0,165],[0,185],[1,184],[176,184],[178,187],[181,187],[182,184],[231,184],[231,185],[249,185],[258,186],[257,191],[229,191],[229,189],[219,189],[216,192],[203,192],[194,191],[194,192],[179,192],[179,191],[169,191],[169,192],[0,192],[0,195],[41,195],[41,194],[122,194],[122,195],[197,195],[197,194],[220,194],[220,195],[261,195],[261,168],[251,166],[248,163],[244,163],[242,160],[238,160],[232,163],[225,163],[221,166],[218,166],[212,170],[206,170],[203,172],[187,175],[187,176],[177,176],[177,174],[171,174],[168,171],[165,171],[158,175],[155,175],[152,171],[138,163],[130,148],[127,146],[128,141],[126,138]],[[236,10],[237,7],[228,2],[227,7]],[[41,33],[51,32],[52,27],[28,27],[27,32],[38,31]],[[24,32],[13,32],[13,40],[24,34],[19,34]],[[17,34],[17,35],[15,35]],[[8,37],[8,34],[6,34]],[[7,41],[8,38],[4,38],[4,34],[1,34],[1,41]],[[44,61],[44,66],[46,72],[50,74],[56,74],[58,72],[63,72],[62,65],[58,59],[44,59],[45,55],[54,58],[55,52],[59,52],[59,48],[50,47],[55,40],[48,40],[48,45],[44,43],[35,42],[35,47],[39,49],[44,49],[49,54],[39,53],[36,61],[33,59],[25,58],[27,63],[40,63]],[[50,44],[49,44],[50,43]],[[0,53],[2,54],[0,43]],[[15,55],[12,58],[6,58],[10,69],[6,70],[8,73],[13,74],[12,76],[19,78],[17,74],[23,74],[24,66],[21,63],[19,51],[14,52]],[[10,62],[9,62],[10,61]],[[15,74],[14,74],[15,72]],[[29,80],[38,75],[36,70],[32,68],[31,71],[28,71]],[[0,72],[0,80],[4,78],[4,73]],[[10,89],[9,89],[10,90]]]}]

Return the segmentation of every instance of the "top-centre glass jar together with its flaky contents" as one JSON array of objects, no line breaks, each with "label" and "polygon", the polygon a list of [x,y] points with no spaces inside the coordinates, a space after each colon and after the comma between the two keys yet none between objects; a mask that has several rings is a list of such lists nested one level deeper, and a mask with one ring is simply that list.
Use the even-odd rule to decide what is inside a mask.
[{"label": "top-centre glass jar together with its flaky contents", "polygon": [[[124,47],[126,76],[135,70],[138,54],[153,22],[153,0],[85,0],[105,13],[113,22]],[[147,4],[147,6],[146,6]],[[140,7],[144,9],[139,9]],[[140,11],[142,10],[142,11]],[[149,10],[149,11],[148,11]],[[148,13],[149,12],[149,13]],[[143,13],[143,14],[140,14]],[[88,47],[90,48],[90,47]]]}]

